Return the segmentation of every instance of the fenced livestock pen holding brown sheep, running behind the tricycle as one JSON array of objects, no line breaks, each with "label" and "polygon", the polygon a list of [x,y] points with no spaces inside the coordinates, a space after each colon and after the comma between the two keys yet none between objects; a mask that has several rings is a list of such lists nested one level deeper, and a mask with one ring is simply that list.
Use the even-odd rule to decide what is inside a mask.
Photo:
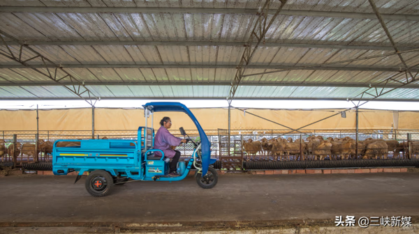
[{"label": "fenced livestock pen holding brown sheep, running behind the tricycle", "polygon": [[[180,136],[178,130],[170,130]],[[198,139],[196,130],[187,130],[189,135]],[[205,130],[212,150],[212,157],[219,159],[217,169],[234,171],[263,169],[307,169],[340,168],[369,166],[419,166],[419,130],[359,130],[358,143],[355,130],[300,130],[299,134],[286,130]],[[135,130],[97,130],[95,139],[136,140]],[[53,142],[58,139],[91,139],[91,131],[2,131],[1,137],[6,150],[1,157],[1,164],[13,163],[25,169],[50,170],[52,155],[43,147],[41,141]],[[314,137],[316,136],[316,137]],[[312,139],[318,139],[311,143]],[[351,139],[352,143],[346,143]],[[365,141],[367,140],[367,141]],[[249,150],[246,143],[260,142],[258,150]],[[332,141],[325,146],[327,141]],[[397,146],[374,148],[367,151],[364,142],[383,141],[396,143]],[[38,144],[36,144],[38,142]],[[228,144],[230,142],[230,144]],[[28,155],[20,148],[24,143],[31,143],[38,154]],[[177,146],[182,158],[190,157],[193,152],[191,143]],[[378,151],[378,153],[376,153]],[[10,153],[12,152],[12,153]]]}]

